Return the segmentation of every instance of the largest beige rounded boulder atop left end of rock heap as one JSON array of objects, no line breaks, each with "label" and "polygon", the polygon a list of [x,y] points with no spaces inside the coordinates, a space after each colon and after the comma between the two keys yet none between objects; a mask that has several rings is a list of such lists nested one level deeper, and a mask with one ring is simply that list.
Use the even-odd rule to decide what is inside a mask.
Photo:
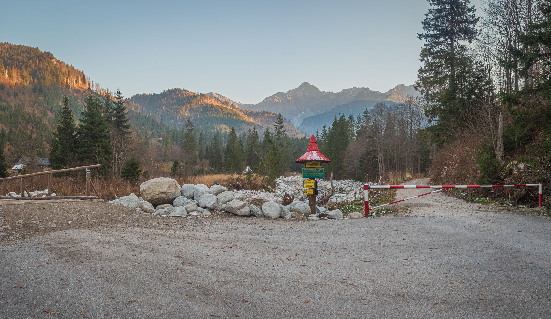
[{"label": "largest beige rounded boulder atop left end of rock heap", "polygon": [[180,185],[175,179],[159,177],[139,185],[139,193],[144,201],[153,205],[170,204],[180,196]]}]

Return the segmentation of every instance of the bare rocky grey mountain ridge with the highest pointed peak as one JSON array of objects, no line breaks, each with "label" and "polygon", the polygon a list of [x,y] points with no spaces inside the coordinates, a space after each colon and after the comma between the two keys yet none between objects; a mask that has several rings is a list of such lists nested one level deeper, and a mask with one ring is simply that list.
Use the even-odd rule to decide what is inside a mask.
[{"label": "bare rocky grey mountain ridge with the highest pointed peak", "polygon": [[299,126],[307,117],[331,111],[336,106],[352,101],[379,98],[382,101],[403,103],[408,96],[419,96],[413,85],[399,84],[385,93],[355,86],[334,93],[320,91],[316,86],[304,82],[296,89],[277,92],[255,105],[242,104],[240,107],[252,111],[282,113],[295,126]]}]

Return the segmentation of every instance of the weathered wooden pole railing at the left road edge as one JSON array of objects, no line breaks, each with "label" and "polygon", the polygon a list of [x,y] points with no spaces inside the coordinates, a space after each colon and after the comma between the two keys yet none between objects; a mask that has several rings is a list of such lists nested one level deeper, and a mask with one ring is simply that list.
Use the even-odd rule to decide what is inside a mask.
[{"label": "weathered wooden pole railing at the left road edge", "polygon": [[[101,199],[100,194],[96,190],[96,187],[94,186],[94,183],[90,180],[90,168],[100,167],[101,164],[95,164],[90,166],[80,166],[80,167],[73,167],[73,168],[64,168],[64,169],[54,169],[53,171],[45,171],[45,172],[38,172],[38,173],[31,173],[31,174],[25,174],[25,175],[18,175],[18,176],[12,176],[12,177],[4,177],[0,178],[2,181],[2,196],[0,196],[0,199]],[[56,192],[56,195],[60,195],[57,193],[56,186],[53,186],[52,183],[52,174],[56,173],[67,173],[72,171],[80,171],[82,169],[86,169],[86,196],[51,196],[52,195],[52,188]],[[47,174],[47,189],[48,189],[48,195],[45,197],[30,197],[29,191],[25,188],[25,178],[28,177],[34,177],[37,175],[44,175]],[[10,195],[10,191],[6,186],[7,180],[14,180],[14,179],[21,179],[21,197],[16,196],[4,196],[6,194]],[[94,189],[96,196],[90,196],[90,185]],[[6,193],[7,191],[7,193]],[[28,197],[25,197],[25,192]]]}]

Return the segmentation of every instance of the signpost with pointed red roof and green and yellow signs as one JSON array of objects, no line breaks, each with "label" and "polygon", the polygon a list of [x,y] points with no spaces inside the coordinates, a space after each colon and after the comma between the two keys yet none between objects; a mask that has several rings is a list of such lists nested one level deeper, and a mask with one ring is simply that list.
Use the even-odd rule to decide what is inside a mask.
[{"label": "signpost with pointed red roof and green and yellow signs", "polygon": [[308,145],[306,153],[295,161],[295,163],[305,164],[305,168],[302,168],[302,178],[306,178],[306,180],[304,180],[304,188],[306,189],[305,194],[308,195],[311,214],[316,213],[316,178],[325,177],[325,170],[321,168],[321,163],[328,162],[331,162],[329,158],[325,157],[325,155],[323,155],[317,148],[316,138],[314,135],[310,138],[310,145]]}]

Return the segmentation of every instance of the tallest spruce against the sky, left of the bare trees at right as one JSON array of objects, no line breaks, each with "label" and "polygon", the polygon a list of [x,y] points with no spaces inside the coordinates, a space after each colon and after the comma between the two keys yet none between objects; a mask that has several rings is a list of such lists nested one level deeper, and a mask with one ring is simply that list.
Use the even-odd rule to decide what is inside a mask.
[{"label": "tallest spruce against the sky, left of the bare trees at right", "polygon": [[451,129],[461,121],[460,88],[458,74],[471,67],[465,42],[476,40],[478,17],[469,0],[428,0],[429,12],[423,20],[419,40],[425,41],[421,49],[415,89],[427,102],[426,116],[437,124],[431,128],[433,138],[441,143],[451,138]]}]

